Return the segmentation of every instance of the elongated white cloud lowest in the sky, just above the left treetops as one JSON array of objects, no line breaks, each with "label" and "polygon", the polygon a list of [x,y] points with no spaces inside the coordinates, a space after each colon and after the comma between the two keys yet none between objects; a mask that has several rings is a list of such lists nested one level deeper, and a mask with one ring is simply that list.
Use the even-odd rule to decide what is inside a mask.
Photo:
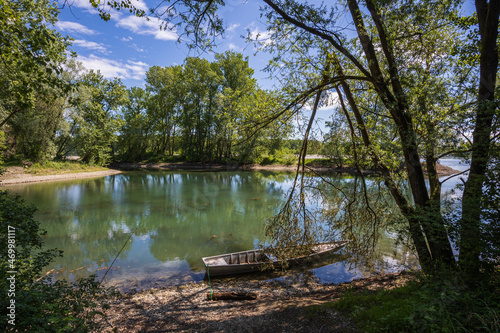
[{"label": "elongated white cloud lowest in the sky, just above the left treetops", "polygon": [[107,78],[142,80],[149,65],[142,61],[127,60],[125,62],[98,57],[91,54],[88,57],[78,56],[77,61],[90,70],[100,71]]}]

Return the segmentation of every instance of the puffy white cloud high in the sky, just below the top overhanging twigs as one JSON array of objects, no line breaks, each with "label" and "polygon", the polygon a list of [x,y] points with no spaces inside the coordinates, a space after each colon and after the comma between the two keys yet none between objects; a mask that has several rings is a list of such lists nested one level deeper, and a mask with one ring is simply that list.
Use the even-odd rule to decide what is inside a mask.
[{"label": "puffy white cloud high in the sky, just below the top overhanging twigs", "polygon": [[159,40],[177,40],[179,37],[175,31],[160,29],[162,21],[156,18],[147,20],[144,17],[115,16],[117,23],[116,26],[132,31],[139,35],[151,35]]}]

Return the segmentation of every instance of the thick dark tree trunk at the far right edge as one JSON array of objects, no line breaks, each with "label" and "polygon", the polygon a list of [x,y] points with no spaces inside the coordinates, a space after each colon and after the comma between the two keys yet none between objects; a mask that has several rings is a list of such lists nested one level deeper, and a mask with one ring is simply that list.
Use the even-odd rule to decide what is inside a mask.
[{"label": "thick dark tree trunk at the far right edge", "polygon": [[498,22],[500,0],[476,0],[481,36],[477,114],[472,134],[472,157],[469,178],[462,197],[460,232],[460,267],[468,278],[480,269],[481,203],[483,183],[490,154],[490,136],[495,114],[495,85],[498,71]]}]

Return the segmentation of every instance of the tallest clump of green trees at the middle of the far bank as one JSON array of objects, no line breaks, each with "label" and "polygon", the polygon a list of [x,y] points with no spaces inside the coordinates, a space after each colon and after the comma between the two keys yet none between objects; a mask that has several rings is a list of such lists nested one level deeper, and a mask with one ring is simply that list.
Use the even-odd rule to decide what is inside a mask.
[{"label": "tallest clump of green trees at the middle of the far bank", "polygon": [[248,59],[230,51],[213,62],[187,58],[183,65],[151,67],[146,89],[130,89],[122,109],[120,157],[163,160],[179,153],[186,161],[244,163],[265,154],[284,157],[290,125],[258,128],[278,97],[259,90],[252,75]]}]

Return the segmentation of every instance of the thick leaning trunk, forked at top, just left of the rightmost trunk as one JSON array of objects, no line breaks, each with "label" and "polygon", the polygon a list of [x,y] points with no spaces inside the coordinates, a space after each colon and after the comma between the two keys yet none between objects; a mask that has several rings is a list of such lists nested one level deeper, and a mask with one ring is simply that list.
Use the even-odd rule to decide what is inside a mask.
[{"label": "thick leaning trunk, forked at top, just left of the rightmost trunk", "polygon": [[[413,129],[413,119],[408,111],[406,94],[402,89],[399,80],[393,50],[387,40],[381,18],[374,3],[367,0],[367,7],[373,21],[375,22],[377,32],[380,37],[381,48],[388,64],[391,82],[390,85],[386,83],[387,80],[385,80],[380,69],[375,46],[373,45],[370,35],[366,30],[357,2],[355,0],[348,0],[348,5],[356,26],[358,39],[363,47],[365,57],[368,62],[368,67],[373,78],[374,88],[391,114],[401,138],[408,181],[410,183],[413,200],[415,201],[416,206],[415,213],[418,214],[418,217],[407,216],[407,218],[409,221],[418,221],[420,228],[425,234],[433,265],[440,265],[441,263],[453,265],[453,251],[451,249],[446,229],[442,224],[442,217],[439,213],[436,215],[436,212],[433,211],[429,202],[429,194],[425,185],[422,165],[420,164],[417,137]],[[418,232],[419,228],[416,226],[410,226],[410,229],[414,230],[414,232]],[[414,239],[414,241],[417,240]]]}]

